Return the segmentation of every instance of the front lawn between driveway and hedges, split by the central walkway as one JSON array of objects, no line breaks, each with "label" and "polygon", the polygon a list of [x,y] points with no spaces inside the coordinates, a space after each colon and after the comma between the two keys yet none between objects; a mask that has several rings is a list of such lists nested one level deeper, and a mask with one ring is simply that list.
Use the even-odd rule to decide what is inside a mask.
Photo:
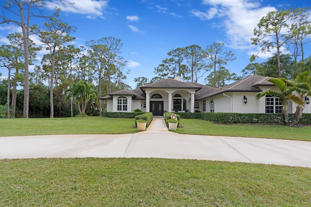
[{"label": "front lawn between driveway and hedges, split by the central walkway", "polygon": [[[282,138],[311,141],[311,126],[268,124],[221,125],[181,119],[176,133],[232,137]],[[60,134],[131,134],[138,132],[134,119],[74,117],[54,119],[0,119],[0,137]]]}]

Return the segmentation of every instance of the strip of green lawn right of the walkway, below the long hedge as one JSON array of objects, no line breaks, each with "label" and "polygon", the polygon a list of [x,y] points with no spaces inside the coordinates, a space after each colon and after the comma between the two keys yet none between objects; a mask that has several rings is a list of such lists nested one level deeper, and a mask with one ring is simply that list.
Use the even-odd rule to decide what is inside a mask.
[{"label": "strip of green lawn right of the walkway, below the long hedge", "polygon": [[214,135],[251,138],[279,138],[311,141],[311,126],[289,127],[268,124],[214,124],[212,122],[182,119],[182,128],[174,132],[180,134]]}]

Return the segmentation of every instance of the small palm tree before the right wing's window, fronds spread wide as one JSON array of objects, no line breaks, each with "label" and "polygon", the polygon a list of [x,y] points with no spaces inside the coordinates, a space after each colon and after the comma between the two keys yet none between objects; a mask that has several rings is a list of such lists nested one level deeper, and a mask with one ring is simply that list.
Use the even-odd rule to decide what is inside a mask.
[{"label": "small palm tree before the right wing's window, fronds spread wide", "polygon": [[298,105],[305,105],[304,101],[293,94],[293,92],[296,90],[295,87],[288,87],[288,82],[285,78],[271,78],[268,80],[269,82],[276,85],[276,87],[279,89],[277,90],[266,90],[264,92],[259,92],[256,94],[256,99],[260,99],[263,96],[266,95],[275,95],[280,98],[281,103],[283,104],[282,108],[282,115],[283,115],[283,123],[288,124],[288,101],[291,100],[292,102],[298,104]]}]

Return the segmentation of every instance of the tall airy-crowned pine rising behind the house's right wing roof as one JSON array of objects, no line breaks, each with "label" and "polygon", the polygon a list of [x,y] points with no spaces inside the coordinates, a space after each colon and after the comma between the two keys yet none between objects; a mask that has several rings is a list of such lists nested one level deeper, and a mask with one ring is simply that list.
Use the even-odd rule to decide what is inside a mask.
[{"label": "tall airy-crowned pine rising behind the house's right wing roof", "polygon": [[[292,8],[289,10],[279,10],[269,12],[266,16],[262,17],[257,25],[258,28],[254,29],[255,37],[251,38],[253,45],[259,45],[259,52],[271,52],[271,49],[276,49],[277,69],[278,76],[282,76],[281,71],[281,48],[285,47],[293,34],[289,31],[289,23],[294,13]],[[258,57],[259,52],[251,56],[251,61]]]}]

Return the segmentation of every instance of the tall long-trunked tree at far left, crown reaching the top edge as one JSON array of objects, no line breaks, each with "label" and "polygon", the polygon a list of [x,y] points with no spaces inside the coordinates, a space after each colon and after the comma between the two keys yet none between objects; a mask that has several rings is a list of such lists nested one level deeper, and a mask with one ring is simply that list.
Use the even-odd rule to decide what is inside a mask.
[{"label": "tall long-trunked tree at far left, crown reaching the top edge", "polygon": [[[63,4],[67,0],[60,0]],[[6,0],[6,3],[1,4],[3,13],[0,15],[0,24],[15,24],[21,27],[23,34],[24,46],[24,109],[23,118],[29,117],[29,33],[30,33],[30,18],[45,17],[42,15],[42,8],[45,0]],[[18,11],[18,12],[17,12]],[[12,16],[5,15],[8,12]]]}]

